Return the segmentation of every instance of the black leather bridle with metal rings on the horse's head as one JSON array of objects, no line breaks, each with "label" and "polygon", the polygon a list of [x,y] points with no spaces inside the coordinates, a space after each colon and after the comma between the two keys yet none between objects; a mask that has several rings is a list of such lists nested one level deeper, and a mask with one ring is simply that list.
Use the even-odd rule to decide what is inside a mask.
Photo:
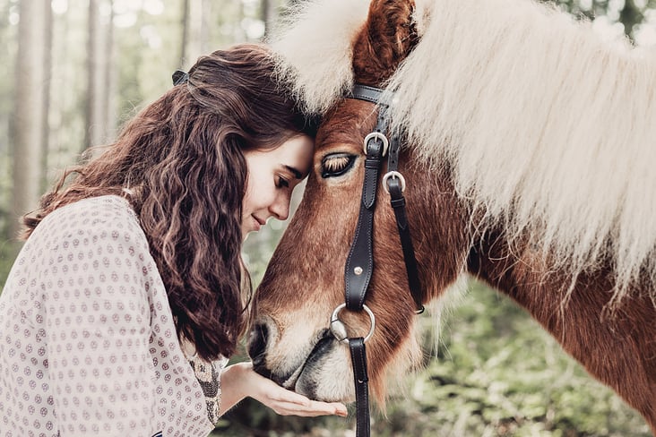
[{"label": "black leather bridle with metal rings on the horse's head", "polygon": [[[403,260],[408,274],[408,285],[410,294],[417,307],[416,313],[423,313],[422,289],[419,281],[419,272],[415,251],[410,238],[410,225],[405,211],[405,179],[398,171],[399,150],[401,141],[394,134],[388,140],[385,132],[389,125],[389,105],[382,101],[384,90],[356,84],[347,99],[365,100],[378,106],[378,118],[372,133],[365,138],[365,181],[362,188],[362,201],[358,216],[353,243],[350,246],[349,257],[346,261],[344,271],[344,282],[346,287],[345,303],[340,304],[332,313],[331,330],[338,340],[348,343],[350,348],[351,362],[353,365],[353,377],[356,387],[356,436],[367,437],[370,433],[369,403],[368,403],[368,377],[367,377],[367,350],[365,342],[371,338],[375,330],[374,313],[367,307],[367,288],[374,270],[374,210],[375,195],[378,185],[378,176],[383,165],[383,159],[387,154],[387,172],[383,176],[382,184],[385,192],[390,194],[390,202],[396,218],[396,226],[401,238]],[[346,307],[353,312],[365,311],[370,318],[371,328],[365,338],[349,338],[344,324],[339,319],[339,313]]]}]

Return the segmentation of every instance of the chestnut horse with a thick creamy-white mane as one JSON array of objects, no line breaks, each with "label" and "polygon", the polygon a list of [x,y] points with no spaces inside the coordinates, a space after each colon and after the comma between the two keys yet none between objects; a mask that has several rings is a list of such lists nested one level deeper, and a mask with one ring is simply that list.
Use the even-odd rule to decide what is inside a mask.
[{"label": "chestnut horse with a thick creamy-white mane", "polygon": [[[281,80],[322,116],[303,199],[255,292],[255,370],[352,401],[349,348],[328,329],[383,88],[420,300],[473,276],[522,306],[656,433],[656,56],[532,0],[317,0],[272,47]],[[420,359],[393,210],[380,184],[367,305],[369,383]],[[349,335],[365,313],[342,312]]]}]

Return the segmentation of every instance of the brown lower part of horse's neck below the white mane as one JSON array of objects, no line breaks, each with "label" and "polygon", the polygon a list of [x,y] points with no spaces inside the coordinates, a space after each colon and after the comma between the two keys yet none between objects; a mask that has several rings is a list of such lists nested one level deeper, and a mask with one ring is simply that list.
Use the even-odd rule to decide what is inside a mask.
[{"label": "brown lower part of horse's neck below the white mane", "polygon": [[656,424],[650,400],[656,397],[656,308],[648,293],[625,297],[613,312],[610,266],[573,283],[530,247],[509,250],[503,237],[488,234],[474,247],[471,273],[514,299],[588,372]]}]

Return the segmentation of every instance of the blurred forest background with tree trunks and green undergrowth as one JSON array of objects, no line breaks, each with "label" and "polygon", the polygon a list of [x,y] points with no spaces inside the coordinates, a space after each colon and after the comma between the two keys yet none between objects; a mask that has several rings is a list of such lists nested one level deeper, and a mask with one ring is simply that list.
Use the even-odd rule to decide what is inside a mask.
[{"label": "blurred forest background with tree trunks and green undergrowth", "polygon": [[[304,0],[0,0],[0,292],[21,242],[18,218],[34,210],[90,145],[113,141],[126,119],[171,86],[171,73],[243,41],[262,40]],[[656,0],[569,0],[605,39],[656,49]],[[295,193],[297,204],[302,189]],[[286,222],[246,240],[254,285]],[[403,390],[377,436],[648,436],[643,419],[566,356],[555,340],[494,290],[470,281],[435,338],[418,320],[424,370]],[[244,360],[242,355],[233,358]],[[343,418],[276,416],[246,400],[216,435],[355,436]],[[214,435],[212,434],[212,435]]]}]

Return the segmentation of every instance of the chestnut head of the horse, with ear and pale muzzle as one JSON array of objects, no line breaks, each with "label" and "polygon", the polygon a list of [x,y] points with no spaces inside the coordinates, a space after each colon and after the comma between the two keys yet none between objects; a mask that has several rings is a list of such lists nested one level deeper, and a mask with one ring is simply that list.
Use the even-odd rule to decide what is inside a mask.
[{"label": "chestnut head of the horse, with ear and pale muzzle", "polygon": [[[394,73],[418,36],[414,3],[375,0],[352,42],[354,80],[380,87]],[[320,55],[319,55],[320,56]],[[344,302],[344,269],[358,221],[364,177],[363,140],[376,122],[375,105],[340,99],[324,117],[316,138],[314,168],[303,201],[272,256],[255,296],[255,325],[248,351],[255,369],[310,398],[354,398],[349,348],[328,330],[332,311]],[[448,168],[427,171],[403,145],[405,176],[424,301],[457,277],[466,260],[466,220],[445,177]],[[383,170],[384,172],[384,170]],[[395,364],[419,357],[410,296],[393,209],[378,184],[373,233],[374,269],[367,306],[375,332],[367,342],[368,369],[377,398]],[[439,253],[439,256],[429,254]],[[369,330],[366,313],[341,312],[350,337]]]}]

